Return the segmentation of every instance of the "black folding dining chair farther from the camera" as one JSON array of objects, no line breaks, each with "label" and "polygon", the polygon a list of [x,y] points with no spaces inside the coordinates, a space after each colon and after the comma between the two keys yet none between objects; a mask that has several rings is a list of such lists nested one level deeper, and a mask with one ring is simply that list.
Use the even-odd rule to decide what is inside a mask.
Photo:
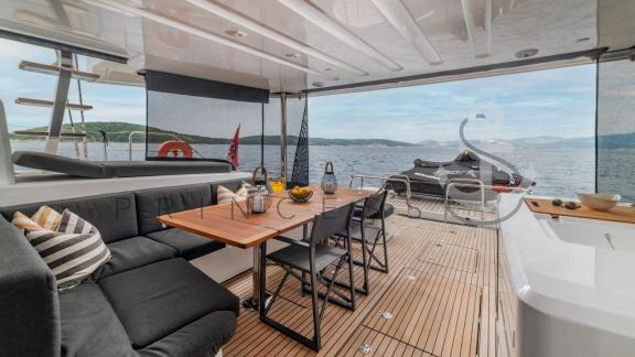
[{"label": "black folding dining chair farther from the camera", "polygon": [[[355,290],[362,294],[370,292],[368,281],[368,269],[380,272],[388,272],[388,247],[386,245],[386,219],[385,207],[388,191],[381,186],[376,193],[368,196],[360,207],[356,207],[353,214],[351,228],[348,231],[338,231],[334,235],[337,246],[349,235],[353,242],[357,242],[362,248],[362,260],[354,259],[353,263],[362,266],[364,281],[360,288]],[[379,219],[379,226],[370,226],[369,221]],[[345,246],[345,245],[344,245]],[[383,248],[383,258],[378,257],[377,247]],[[343,283],[336,282],[340,285]]]}]

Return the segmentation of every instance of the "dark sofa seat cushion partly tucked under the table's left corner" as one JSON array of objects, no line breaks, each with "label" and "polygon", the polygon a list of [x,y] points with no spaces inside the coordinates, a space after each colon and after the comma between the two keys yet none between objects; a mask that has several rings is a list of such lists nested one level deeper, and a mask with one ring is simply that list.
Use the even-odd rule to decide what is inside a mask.
[{"label": "dark sofa seat cushion partly tucked under the table's left corner", "polygon": [[172,247],[176,250],[179,257],[187,260],[225,248],[225,244],[177,228],[154,231],[148,234],[147,237]]}]

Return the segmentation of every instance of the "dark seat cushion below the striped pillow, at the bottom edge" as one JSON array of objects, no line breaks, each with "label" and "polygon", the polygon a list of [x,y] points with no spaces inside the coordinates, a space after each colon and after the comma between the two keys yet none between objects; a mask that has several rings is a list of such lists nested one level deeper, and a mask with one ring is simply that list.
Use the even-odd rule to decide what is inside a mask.
[{"label": "dark seat cushion below the striped pillow, at the bottom edge", "polygon": [[92,280],[60,293],[62,356],[134,356],[126,329]]}]

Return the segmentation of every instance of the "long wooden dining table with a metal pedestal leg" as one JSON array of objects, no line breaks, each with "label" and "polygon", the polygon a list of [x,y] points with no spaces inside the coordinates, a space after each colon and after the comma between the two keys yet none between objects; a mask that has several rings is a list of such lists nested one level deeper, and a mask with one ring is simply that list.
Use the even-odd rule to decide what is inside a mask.
[{"label": "long wooden dining table with a metal pedestal leg", "polygon": [[308,202],[291,199],[289,192],[268,194],[271,206],[265,213],[247,214],[246,202],[204,206],[158,217],[165,226],[175,227],[241,249],[254,248],[252,295],[243,302],[247,309],[258,310],[261,274],[260,262],[266,259],[267,241],[302,227],[308,237],[309,225],[316,215],[353,203],[363,202],[373,191],[341,187],[333,194],[309,186],[313,192]]}]

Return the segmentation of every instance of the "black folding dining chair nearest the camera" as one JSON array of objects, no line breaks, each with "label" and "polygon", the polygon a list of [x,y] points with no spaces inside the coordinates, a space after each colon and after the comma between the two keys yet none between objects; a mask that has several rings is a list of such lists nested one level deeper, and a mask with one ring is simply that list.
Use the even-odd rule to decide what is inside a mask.
[{"label": "black folding dining chair nearest the camera", "polygon": [[[313,220],[311,235],[306,240],[293,241],[288,247],[267,255],[267,259],[262,259],[260,262],[260,271],[262,275],[266,274],[265,269],[268,266],[267,261],[280,266],[286,272],[280,284],[276,289],[276,292],[272,294],[269,304],[265,306],[265,309],[260,310],[260,320],[314,350],[320,350],[321,347],[320,325],[326,304],[334,302],[346,309],[355,310],[355,290],[353,288],[348,289],[348,296],[346,293],[333,289],[334,282],[337,281],[337,274],[344,263],[347,263],[348,266],[348,286],[354,286],[353,259],[349,248],[351,239],[345,238],[347,239],[347,249],[329,247],[330,237],[332,237],[336,231],[348,230],[353,209],[354,204],[351,204],[316,215]],[[335,269],[331,273],[331,277],[324,277],[326,270],[331,271],[331,269],[326,268],[332,267],[333,264],[335,264]],[[309,279],[305,279],[305,275],[309,275]],[[298,279],[303,289],[308,290],[311,294],[314,331],[312,338],[309,338],[268,316],[269,311],[276,304],[276,300],[280,295],[282,286],[289,277]],[[318,291],[319,283],[326,288],[326,292],[322,293]],[[265,296],[265,283],[260,284],[260,296]],[[319,305],[320,300],[323,300],[322,305]]]}]

